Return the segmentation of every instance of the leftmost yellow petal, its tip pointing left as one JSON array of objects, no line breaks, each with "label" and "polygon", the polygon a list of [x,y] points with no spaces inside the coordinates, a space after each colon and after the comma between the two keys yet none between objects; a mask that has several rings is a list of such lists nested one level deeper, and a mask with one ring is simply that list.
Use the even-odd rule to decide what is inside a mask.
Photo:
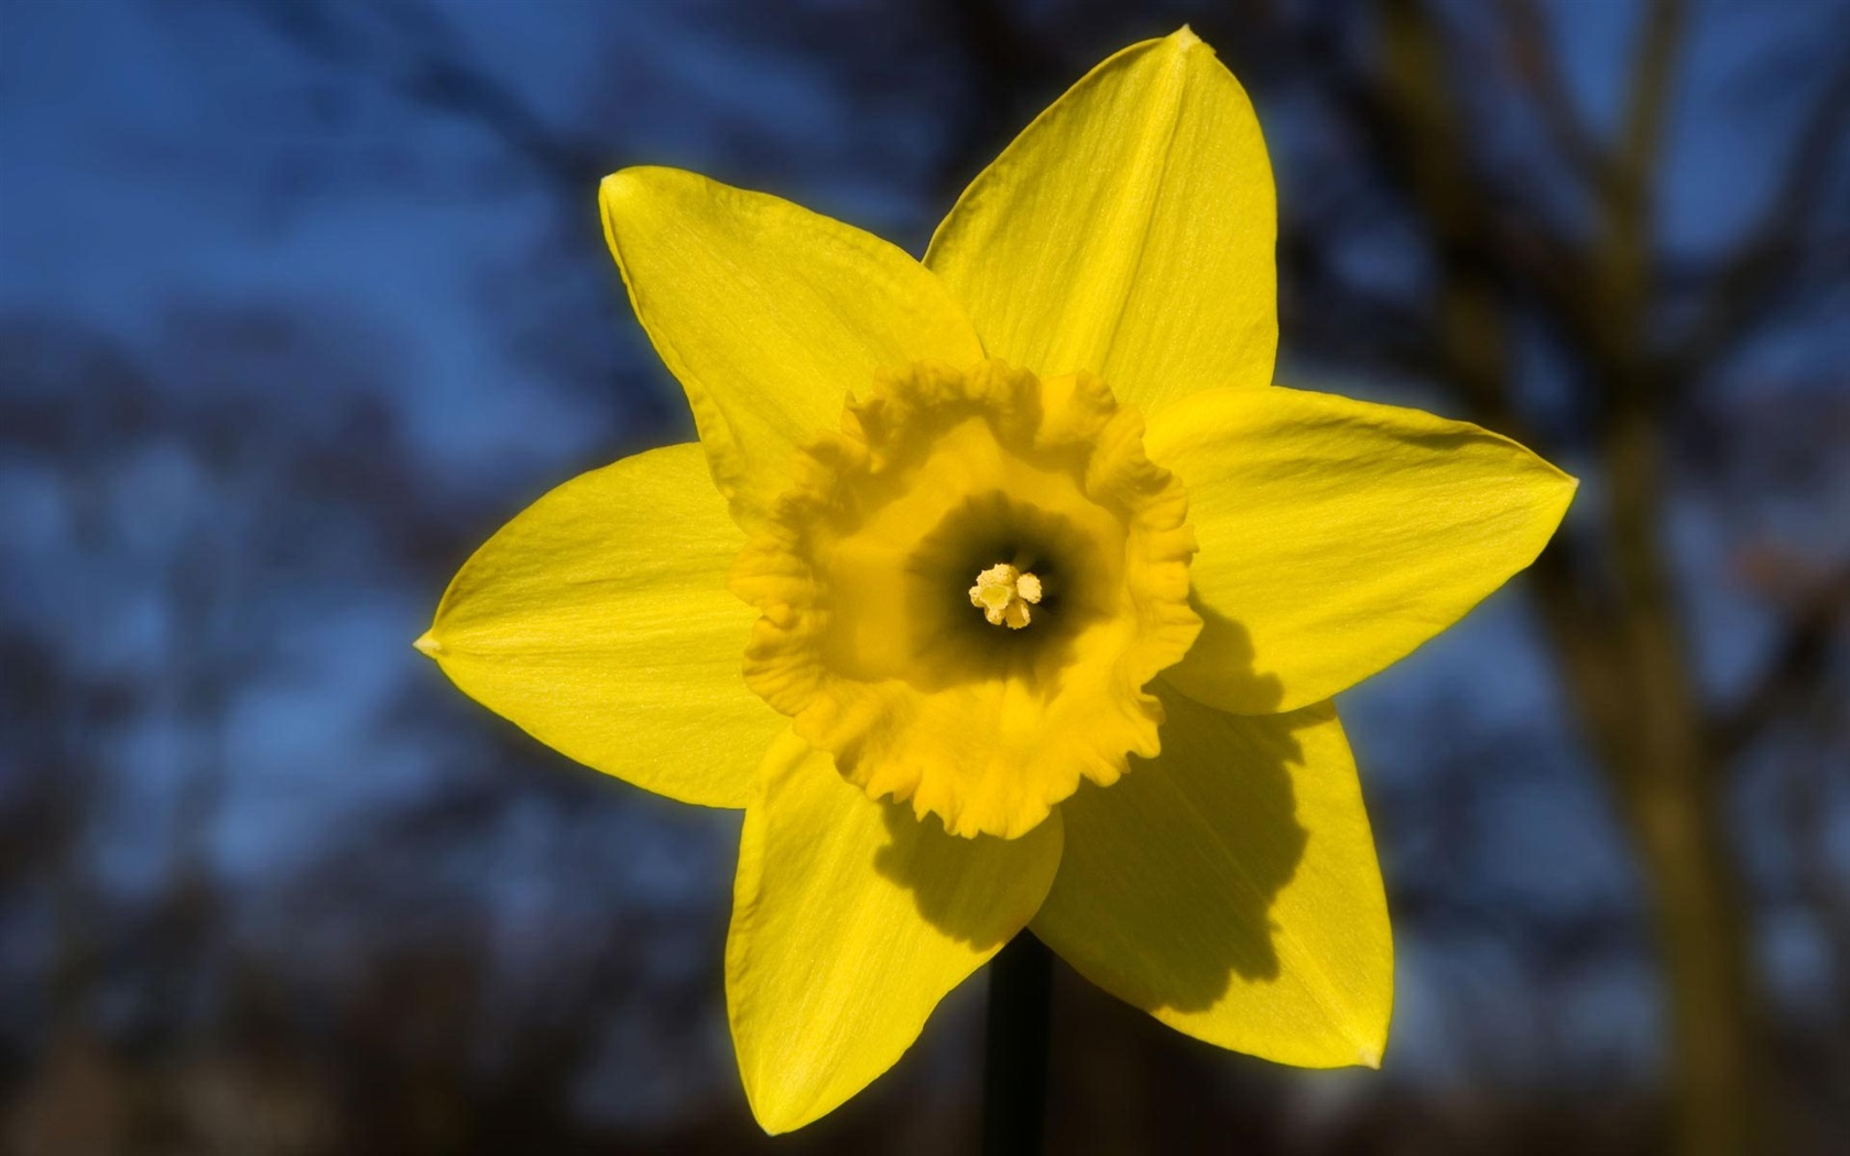
[{"label": "leftmost yellow petal, its tip pointing left", "polygon": [[746,690],[744,535],[699,446],[568,481],[475,551],[418,649],[472,699],[640,788],[744,806],[786,719]]}]

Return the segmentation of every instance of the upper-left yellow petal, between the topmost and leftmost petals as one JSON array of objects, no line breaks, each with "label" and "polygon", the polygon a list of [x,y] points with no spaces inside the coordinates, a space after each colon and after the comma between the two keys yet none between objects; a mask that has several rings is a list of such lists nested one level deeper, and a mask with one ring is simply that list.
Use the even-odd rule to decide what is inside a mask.
[{"label": "upper-left yellow petal, between the topmost and leftmost petals", "polygon": [[675,168],[625,168],[599,202],[636,318],[681,379],[742,525],[788,488],[792,449],[834,429],[877,370],[982,357],[931,272],[838,220]]}]

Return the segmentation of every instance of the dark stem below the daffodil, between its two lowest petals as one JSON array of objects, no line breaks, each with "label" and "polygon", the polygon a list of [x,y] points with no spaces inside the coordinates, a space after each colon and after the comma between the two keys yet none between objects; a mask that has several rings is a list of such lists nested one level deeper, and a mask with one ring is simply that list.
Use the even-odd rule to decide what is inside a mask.
[{"label": "dark stem below the daffodil, between its two lowest petals", "polygon": [[1040,1156],[1047,1130],[1047,1028],[1053,953],[1030,932],[990,962],[982,1049],[984,1156]]}]

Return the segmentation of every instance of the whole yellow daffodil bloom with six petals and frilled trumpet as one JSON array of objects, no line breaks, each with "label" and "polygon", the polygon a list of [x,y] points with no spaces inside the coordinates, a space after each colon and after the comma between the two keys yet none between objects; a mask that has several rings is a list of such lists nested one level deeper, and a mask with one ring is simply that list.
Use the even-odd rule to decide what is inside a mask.
[{"label": "whole yellow daffodil bloom with six petals and frilled trumpet", "polygon": [[770,1132],[1021,928],[1199,1039],[1375,1065],[1393,953],[1330,695],[1524,568],[1574,481],[1271,387],[1252,105],[1125,48],[925,261],[670,168],[603,222],[697,446],[540,498],[418,647],[540,742],[746,808],[727,1010]]}]

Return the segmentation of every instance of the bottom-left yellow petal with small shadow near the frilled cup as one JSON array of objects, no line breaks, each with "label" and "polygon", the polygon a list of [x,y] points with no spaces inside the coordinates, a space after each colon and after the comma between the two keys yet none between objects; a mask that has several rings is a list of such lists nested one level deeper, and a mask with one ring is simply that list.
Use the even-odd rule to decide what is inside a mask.
[{"label": "bottom-left yellow petal with small shadow near the frilled cup", "polygon": [[962,840],[875,803],[803,740],[777,740],[746,808],[725,943],[751,1110],[788,1132],[899,1060],[925,1017],[1040,906],[1060,821]]}]

